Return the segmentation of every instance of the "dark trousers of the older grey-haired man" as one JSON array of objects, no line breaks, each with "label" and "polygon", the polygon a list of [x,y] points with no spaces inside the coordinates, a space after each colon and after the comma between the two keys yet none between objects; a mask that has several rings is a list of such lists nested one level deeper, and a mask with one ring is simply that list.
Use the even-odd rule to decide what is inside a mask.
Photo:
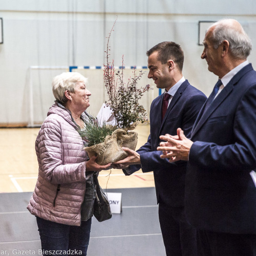
[{"label": "dark trousers of the older grey-haired man", "polygon": [[256,234],[197,233],[199,256],[256,256]]}]

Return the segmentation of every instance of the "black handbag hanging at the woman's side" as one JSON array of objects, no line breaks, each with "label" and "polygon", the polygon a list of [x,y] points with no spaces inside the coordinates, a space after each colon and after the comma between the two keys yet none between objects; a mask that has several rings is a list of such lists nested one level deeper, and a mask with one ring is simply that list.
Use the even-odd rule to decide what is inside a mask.
[{"label": "black handbag hanging at the woman's side", "polygon": [[109,220],[112,217],[109,200],[99,185],[97,174],[94,174],[93,178],[96,184],[96,198],[93,215],[99,222]]}]

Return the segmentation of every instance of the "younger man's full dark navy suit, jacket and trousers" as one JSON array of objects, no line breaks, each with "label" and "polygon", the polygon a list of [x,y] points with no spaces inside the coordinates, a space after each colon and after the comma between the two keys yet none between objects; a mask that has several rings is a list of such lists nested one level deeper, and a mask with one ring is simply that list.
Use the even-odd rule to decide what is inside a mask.
[{"label": "younger man's full dark navy suit, jacket and trousers", "polygon": [[[178,127],[183,129],[185,135],[190,136],[193,124],[205,100],[206,96],[185,80],[170,101],[163,121],[161,121],[163,94],[153,100],[150,111],[151,134],[147,142],[137,151],[140,154],[141,165],[130,166],[130,174],[140,168],[142,172],[154,172],[159,220],[167,255],[178,256],[181,255],[180,247],[187,245],[190,248],[184,249],[191,251],[191,246],[194,246],[189,244],[191,241],[184,242],[189,240],[187,239],[189,234],[184,234],[182,245],[175,242],[174,232],[172,232],[174,223],[170,222],[170,216],[176,225],[177,222],[181,223],[180,226],[184,224],[184,232],[194,233],[195,229],[186,223],[183,212],[186,162],[169,163],[166,159],[161,159],[162,153],[157,151],[160,143],[159,136],[166,133],[176,135]],[[179,243],[180,233],[176,236]],[[193,243],[196,242],[195,240]],[[170,254],[170,246],[175,247],[177,252]]]}]

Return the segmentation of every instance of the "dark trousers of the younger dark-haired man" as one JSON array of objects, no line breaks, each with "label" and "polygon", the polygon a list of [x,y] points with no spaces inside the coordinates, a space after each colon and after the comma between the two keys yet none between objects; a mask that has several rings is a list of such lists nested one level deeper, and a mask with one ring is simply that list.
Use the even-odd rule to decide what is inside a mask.
[{"label": "dark trousers of the younger dark-haired man", "polygon": [[186,222],[183,207],[159,202],[159,222],[167,256],[197,256],[197,231]]}]

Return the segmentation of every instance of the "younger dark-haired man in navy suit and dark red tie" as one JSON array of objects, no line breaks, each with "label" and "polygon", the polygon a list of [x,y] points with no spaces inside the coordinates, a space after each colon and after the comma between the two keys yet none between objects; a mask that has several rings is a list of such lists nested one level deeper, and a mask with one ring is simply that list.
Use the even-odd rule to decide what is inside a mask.
[{"label": "younger dark-haired man in navy suit and dark red tie", "polygon": [[140,168],[142,172],[154,172],[159,221],[166,255],[197,255],[196,230],[184,216],[184,184],[186,162],[169,163],[160,158],[157,146],[159,136],[176,134],[182,127],[190,136],[196,117],[206,96],[191,86],[182,75],[184,54],[175,42],[161,42],[147,51],[148,78],[155,81],[157,88],[165,92],[153,100],[150,111],[151,134],[147,142],[137,151],[123,148],[129,153],[118,167],[127,167],[130,175]]}]

